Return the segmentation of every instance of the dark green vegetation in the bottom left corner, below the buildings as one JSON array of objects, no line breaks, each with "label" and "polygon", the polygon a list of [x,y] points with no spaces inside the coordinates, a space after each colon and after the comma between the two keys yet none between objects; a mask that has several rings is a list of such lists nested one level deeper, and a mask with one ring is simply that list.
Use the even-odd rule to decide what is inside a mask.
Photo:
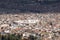
[{"label": "dark green vegetation in the bottom left corner, below the buildings", "polygon": [[0,39],[1,40],[21,40],[21,35],[15,35],[15,34],[6,34],[6,35],[1,35],[0,34]]}]

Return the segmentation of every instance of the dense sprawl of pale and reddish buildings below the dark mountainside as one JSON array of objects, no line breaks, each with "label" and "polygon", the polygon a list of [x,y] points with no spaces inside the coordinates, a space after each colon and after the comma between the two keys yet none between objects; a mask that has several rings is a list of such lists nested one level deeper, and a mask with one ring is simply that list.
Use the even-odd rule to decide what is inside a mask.
[{"label": "dense sprawl of pale and reddish buildings below the dark mountainside", "polygon": [[[37,21],[28,23],[22,20]],[[59,40],[60,14],[2,14],[0,35],[3,40]]]}]

